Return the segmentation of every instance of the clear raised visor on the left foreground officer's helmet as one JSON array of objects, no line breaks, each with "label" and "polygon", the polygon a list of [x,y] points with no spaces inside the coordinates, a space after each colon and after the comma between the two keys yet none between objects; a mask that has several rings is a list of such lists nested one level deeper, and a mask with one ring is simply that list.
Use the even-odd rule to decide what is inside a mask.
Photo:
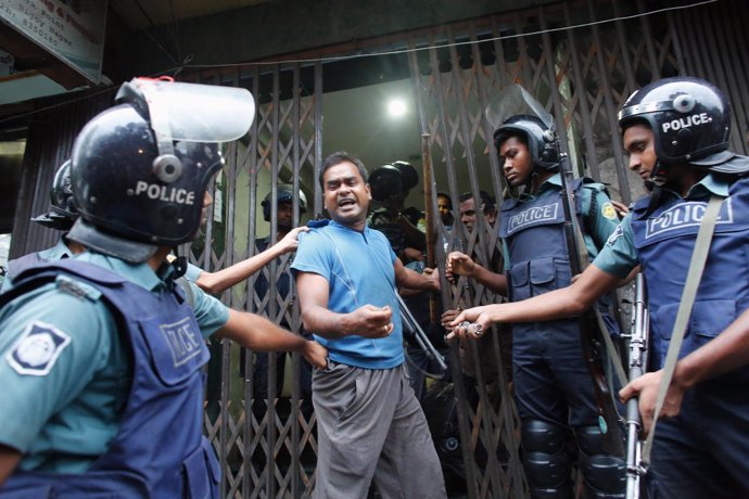
[{"label": "clear raised visor on the left foreground officer's helmet", "polygon": [[244,136],[255,117],[255,101],[243,88],[148,78],[132,82],[145,95],[161,139],[229,142]]}]

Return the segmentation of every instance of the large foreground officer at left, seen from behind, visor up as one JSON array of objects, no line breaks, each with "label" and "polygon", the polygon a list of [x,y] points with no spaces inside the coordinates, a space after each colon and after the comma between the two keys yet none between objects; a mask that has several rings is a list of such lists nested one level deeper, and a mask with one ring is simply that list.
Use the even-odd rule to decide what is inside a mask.
[{"label": "large foreground officer at left, seen from behind, visor up", "polygon": [[68,236],[89,251],[29,268],[1,299],[3,498],[217,497],[203,337],[326,364],[319,345],[190,285],[193,314],[165,263],[198,230],[217,143],[246,132],[251,95],[135,79],[116,102],[73,149]]}]

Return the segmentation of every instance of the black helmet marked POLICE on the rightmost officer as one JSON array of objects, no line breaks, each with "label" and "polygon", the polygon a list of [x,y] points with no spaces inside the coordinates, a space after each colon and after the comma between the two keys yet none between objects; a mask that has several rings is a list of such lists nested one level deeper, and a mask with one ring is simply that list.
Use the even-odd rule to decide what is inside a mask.
[{"label": "black helmet marked POLICE on the rightmost officer", "polygon": [[622,130],[643,121],[652,129],[656,156],[664,165],[689,163],[734,171],[736,165],[726,164],[735,156],[727,151],[731,106],[712,84],[674,77],[646,85],[619,112]]}]

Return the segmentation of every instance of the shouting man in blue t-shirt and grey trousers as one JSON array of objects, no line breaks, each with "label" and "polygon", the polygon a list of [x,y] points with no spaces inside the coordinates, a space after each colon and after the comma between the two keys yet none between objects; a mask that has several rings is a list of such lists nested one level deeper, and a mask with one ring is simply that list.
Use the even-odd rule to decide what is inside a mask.
[{"label": "shouting man in blue t-shirt and grey trousers", "polygon": [[437,274],[406,269],[367,227],[367,170],[346,153],[320,170],[332,220],[302,234],[292,271],[304,327],[329,350],[313,374],[318,421],[316,498],[445,497],[427,419],[404,366],[395,285],[439,290]]}]

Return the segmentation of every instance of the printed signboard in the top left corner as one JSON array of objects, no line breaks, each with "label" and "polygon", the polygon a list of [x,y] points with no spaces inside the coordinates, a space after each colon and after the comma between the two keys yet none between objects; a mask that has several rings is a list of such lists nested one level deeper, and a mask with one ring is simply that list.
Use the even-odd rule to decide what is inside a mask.
[{"label": "printed signboard in the top left corner", "polygon": [[2,0],[0,21],[99,84],[106,0]]}]

